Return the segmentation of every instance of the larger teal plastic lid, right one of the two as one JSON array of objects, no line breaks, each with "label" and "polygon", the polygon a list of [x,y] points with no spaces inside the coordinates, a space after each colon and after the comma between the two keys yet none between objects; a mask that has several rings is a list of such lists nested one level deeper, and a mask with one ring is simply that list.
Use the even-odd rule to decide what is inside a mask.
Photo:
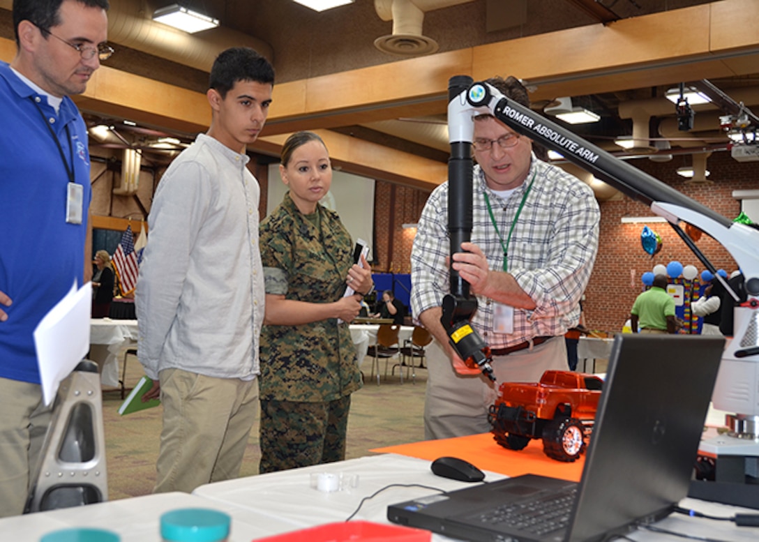
[{"label": "larger teal plastic lid, right one of the two", "polygon": [[170,542],[219,542],[229,536],[231,518],[204,508],[172,510],[161,516],[161,537]]}]

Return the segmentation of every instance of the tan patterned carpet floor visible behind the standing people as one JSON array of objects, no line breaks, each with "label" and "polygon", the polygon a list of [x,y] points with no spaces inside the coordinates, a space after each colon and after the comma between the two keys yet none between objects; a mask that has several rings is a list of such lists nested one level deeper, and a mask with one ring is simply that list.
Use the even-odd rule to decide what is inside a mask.
[{"label": "tan patterned carpet floor visible behind the standing people", "polygon": [[[384,370],[382,361],[380,364]],[[371,367],[371,358],[366,358],[361,367],[366,374]],[[137,359],[130,357],[127,384],[134,385],[142,375]],[[426,370],[417,370],[416,383],[405,378],[401,384],[396,368],[395,375],[383,379],[380,386],[367,374],[367,385],[352,396],[346,457],[370,455],[369,450],[379,446],[424,440],[422,414],[426,383]],[[119,416],[121,394],[118,389],[103,389],[102,399],[109,500],[151,493],[156,481],[161,407]],[[254,426],[241,476],[257,474],[259,458],[258,427]]]}]

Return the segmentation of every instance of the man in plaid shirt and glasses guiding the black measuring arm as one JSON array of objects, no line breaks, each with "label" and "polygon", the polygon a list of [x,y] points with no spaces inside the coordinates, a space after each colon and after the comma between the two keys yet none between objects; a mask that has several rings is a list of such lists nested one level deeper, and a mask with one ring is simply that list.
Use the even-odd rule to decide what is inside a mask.
[{"label": "man in plaid shirt and glasses guiding the black measuring arm", "polygon": [[[514,77],[487,80],[530,105]],[[471,243],[452,266],[477,296],[471,325],[493,351],[498,383],[540,380],[566,370],[564,333],[576,326],[579,301],[598,247],[600,210],[587,184],[538,160],[532,141],[491,115],[474,120]],[[411,307],[435,336],[427,351],[427,439],[490,431],[497,389],[465,365],[440,323],[449,292],[448,183],[427,200],[411,252]]]}]

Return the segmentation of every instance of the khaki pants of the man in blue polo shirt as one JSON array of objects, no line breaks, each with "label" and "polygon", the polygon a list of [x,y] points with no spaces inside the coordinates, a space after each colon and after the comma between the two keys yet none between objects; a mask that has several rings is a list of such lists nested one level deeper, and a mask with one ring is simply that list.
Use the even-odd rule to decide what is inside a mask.
[{"label": "khaki pants of the man in blue polo shirt", "polygon": [[0,378],[0,518],[24,512],[50,424],[39,384]]}]

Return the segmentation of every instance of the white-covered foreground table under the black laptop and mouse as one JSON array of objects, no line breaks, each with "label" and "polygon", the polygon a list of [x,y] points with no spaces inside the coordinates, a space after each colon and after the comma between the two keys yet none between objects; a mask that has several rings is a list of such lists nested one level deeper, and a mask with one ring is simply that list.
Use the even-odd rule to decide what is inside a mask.
[{"label": "white-covered foreground table under the black laptop and mouse", "polygon": [[[323,493],[310,487],[311,474],[329,472],[333,474],[358,475],[355,489],[335,493]],[[502,474],[486,472],[486,481],[504,478]],[[437,477],[430,471],[430,462],[395,454],[376,455],[351,459],[345,462],[298,468],[272,474],[241,478],[216,484],[206,484],[194,490],[194,495],[202,496],[222,505],[234,505],[266,514],[272,520],[308,528],[329,522],[345,521],[357,508],[359,501],[370,496],[388,484],[424,484],[442,490],[457,490],[471,487],[471,484]],[[387,507],[418,496],[434,495],[438,492],[420,487],[392,487],[367,500],[355,519],[389,524]],[[683,499],[681,506],[715,516],[732,516],[736,511],[754,513],[734,506],[707,503],[698,499]],[[599,511],[603,513],[603,511]],[[733,542],[752,542],[759,537],[759,528],[739,528],[729,522],[716,522],[685,515],[670,515],[657,522],[657,526],[672,531],[698,536],[712,537]],[[0,524],[2,528],[2,524]],[[650,531],[635,531],[628,534],[632,540],[672,542],[666,534]],[[433,534],[433,540],[451,540]]]}]

